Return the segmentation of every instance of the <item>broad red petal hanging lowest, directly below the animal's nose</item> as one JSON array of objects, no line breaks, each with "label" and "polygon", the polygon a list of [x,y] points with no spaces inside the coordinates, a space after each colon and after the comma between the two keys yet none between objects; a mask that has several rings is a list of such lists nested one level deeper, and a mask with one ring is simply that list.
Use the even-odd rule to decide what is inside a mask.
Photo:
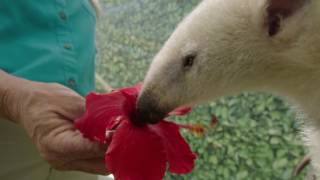
[{"label": "broad red petal hanging lowest, directly below the animal's nose", "polygon": [[113,135],[106,164],[119,180],[161,180],[166,170],[166,152],[161,138],[148,126],[123,121]]}]

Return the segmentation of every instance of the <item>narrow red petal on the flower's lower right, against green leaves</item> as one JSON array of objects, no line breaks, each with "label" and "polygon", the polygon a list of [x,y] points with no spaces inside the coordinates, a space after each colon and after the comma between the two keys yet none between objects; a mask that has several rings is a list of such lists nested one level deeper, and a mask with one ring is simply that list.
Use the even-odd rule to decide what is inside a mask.
[{"label": "narrow red petal on the flower's lower right, against green leaves", "polygon": [[167,152],[169,171],[177,174],[191,172],[196,155],[181,136],[179,126],[168,121],[161,121],[156,125],[148,126],[162,138]]}]

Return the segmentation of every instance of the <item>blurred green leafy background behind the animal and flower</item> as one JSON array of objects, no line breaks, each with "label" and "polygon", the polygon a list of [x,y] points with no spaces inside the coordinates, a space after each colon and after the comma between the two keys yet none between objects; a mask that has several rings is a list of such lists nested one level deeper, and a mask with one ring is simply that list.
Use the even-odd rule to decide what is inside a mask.
[{"label": "blurred green leafy background behind the animal and flower", "polygon": [[[200,0],[104,0],[98,27],[97,72],[110,86],[143,80],[152,58]],[[98,89],[102,90],[102,86]],[[176,119],[207,126],[203,137],[184,132],[198,154],[195,170],[167,180],[291,179],[305,154],[299,122],[289,106],[269,94],[221,98]],[[302,174],[297,179],[304,179]]]}]

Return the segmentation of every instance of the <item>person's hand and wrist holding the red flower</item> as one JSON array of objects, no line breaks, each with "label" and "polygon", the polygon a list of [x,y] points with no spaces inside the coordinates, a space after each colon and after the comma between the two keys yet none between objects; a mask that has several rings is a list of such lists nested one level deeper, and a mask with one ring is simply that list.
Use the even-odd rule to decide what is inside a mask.
[{"label": "person's hand and wrist holding the red flower", "polygon": [[83,138],[73,121],[85,110],[85,100],[59,85],[13,78],[6,91],[5,115],[19,123],[41,156],[58,170],[107,174],[106,147]]}]

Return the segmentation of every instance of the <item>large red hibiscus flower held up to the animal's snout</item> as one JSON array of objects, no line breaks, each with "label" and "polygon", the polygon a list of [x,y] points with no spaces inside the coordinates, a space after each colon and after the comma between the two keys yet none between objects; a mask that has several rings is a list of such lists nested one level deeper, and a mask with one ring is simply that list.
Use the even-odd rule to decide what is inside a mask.
[{"label": "large red hibiscus flower held up to the animal's snout", "polygon": [[[166,120],[143,126],[131,122],[140,87],[89,94],[86,113],[76,121],[76,128],[93,141],[109,144],[106,167],[117,180],[161,180],[166,170],[189,173],[196,155],[180,135],[179,129],[185,126]],[[169,115],[185,115],[190,110],[179,108]],[[114,130],[112,140],[106,135],[110,130]]]}]

